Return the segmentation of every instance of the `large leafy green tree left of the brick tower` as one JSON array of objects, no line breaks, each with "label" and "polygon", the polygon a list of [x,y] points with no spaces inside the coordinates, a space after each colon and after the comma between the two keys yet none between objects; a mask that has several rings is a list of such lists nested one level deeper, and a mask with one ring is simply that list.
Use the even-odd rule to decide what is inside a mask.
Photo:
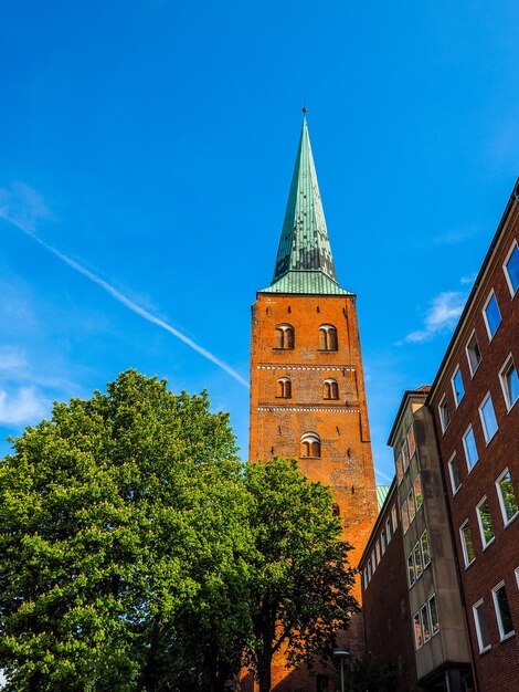
[{"label": "large leafy green tree left of the brick tower", "polygon": [[215,690],[248,631],[247,506],[227,416],[135,370],[0,463],[8,690]]}]

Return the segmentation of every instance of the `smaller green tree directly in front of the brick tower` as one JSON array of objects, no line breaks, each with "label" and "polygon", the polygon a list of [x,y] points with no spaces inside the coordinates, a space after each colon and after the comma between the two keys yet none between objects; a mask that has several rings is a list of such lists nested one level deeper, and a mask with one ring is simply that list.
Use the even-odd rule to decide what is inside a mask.
[{"label": "smaller green tree directly in front of the brick tower", "polygon": [[331,656],[337,630],[358,609],[350,595],[354,570],[330,491],[308,482],[295,460],[248,463],[245,485],[255,551],[246,659],[260,691],[269,692],[272,659],[282,647],[289,665]]}]

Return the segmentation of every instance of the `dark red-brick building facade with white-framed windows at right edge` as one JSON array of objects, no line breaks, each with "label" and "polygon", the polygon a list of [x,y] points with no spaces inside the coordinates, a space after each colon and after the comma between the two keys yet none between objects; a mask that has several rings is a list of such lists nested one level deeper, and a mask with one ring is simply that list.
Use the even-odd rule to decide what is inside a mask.
[{"label": "dark red-brick building facade with white-framed windows at right edge", "polygon": [[430,396],[479,690],[519,690],[519,182]]}]

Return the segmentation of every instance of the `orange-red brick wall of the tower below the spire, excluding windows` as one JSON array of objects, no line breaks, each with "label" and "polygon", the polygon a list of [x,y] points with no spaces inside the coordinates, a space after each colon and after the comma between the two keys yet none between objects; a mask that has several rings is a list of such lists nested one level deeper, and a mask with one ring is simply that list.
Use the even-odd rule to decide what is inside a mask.
[{"label": "orange-red brick wall of the tower below the spire, excluding windows", "polygon": [[[279,324],[294,327],[294,349],[276,347]],[[324,324],[337,328],[337,350],[319,349]],[[292,380],[290,399],[276,397],[280,377]],[[324,398],[327,378],[337,380],[337,400]],[[305,432],[320,437],[319,459],[300,458]],[[377,516],[377,497],[354,296],[257,295],[252,315],[250,440],[251,460],[273,454],[296,458],[310,480],[331,487],[345,538],[354,546],[350,562],[357,565]],[[356,596],[360,600],[359,584]],[[352,650],[362,651],[361,620],[348,640]],[[316,689],[306,670],[288,673],[283,658],[273,672],[273,689],[278,692]]]}]

